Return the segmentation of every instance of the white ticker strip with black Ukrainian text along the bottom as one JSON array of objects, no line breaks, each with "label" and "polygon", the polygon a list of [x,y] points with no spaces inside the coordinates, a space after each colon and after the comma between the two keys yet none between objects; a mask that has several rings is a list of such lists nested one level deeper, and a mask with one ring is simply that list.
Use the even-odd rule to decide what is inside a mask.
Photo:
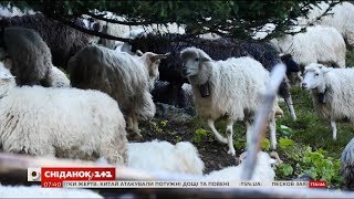
[{"label": "white ticker strip with black Ukrainian text along the bottom", "polygon": [[66,188],[309,188],[309,181],[63,181]]}]

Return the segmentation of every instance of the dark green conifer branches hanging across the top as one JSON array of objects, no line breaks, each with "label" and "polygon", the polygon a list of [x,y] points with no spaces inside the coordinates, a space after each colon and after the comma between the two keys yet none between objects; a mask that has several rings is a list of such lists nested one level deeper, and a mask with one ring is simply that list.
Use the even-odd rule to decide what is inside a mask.
[{"label": "dark green conifer branches hanging across the top", "polygon": [[[250,39],[253,30],[267,23],[277,24],[270,38],[279,35],[293,24],[293,20],[305,15],[314,0],[238,0],[238,1],[2,1],[1,4],[31,8],[54,18],[72,20],[82,14],[111,11],[124,15],[126,21],[117,23],[166,24],[176,22],[187,25],[187,32],[200,34],[214,32],[220,35]],[[269,39],[270,39],[269,38]]]}]

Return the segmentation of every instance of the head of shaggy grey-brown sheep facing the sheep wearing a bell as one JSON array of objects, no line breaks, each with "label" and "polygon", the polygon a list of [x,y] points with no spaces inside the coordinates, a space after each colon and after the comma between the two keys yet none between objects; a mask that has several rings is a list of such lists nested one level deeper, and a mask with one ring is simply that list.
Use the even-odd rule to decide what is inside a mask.
[{"label": "head of shaggy grey-brown sheep facing the sheep wearing a bell", "polygon": [[146,66],[148,71],[148,76],[150,80],[150,84],[154,85],[155,80],[158,78],[159,72],[158,72],[158,65],[163,59],[166,59],[169,55],[169,53],[166,54],[155,54],[153,52],[146,52],[142,55],[142,60],[144,62],[144,65]]}]

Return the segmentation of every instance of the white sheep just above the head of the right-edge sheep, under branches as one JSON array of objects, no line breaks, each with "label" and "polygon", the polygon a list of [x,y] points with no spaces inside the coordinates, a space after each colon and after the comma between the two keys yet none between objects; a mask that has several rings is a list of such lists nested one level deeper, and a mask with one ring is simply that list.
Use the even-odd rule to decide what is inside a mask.
[{"label": "white sheep just above the head of the right-edge sheep, under branches", "polygon": [[345,42],[334,28],[309,27],[306,32],[285,34],[273,39],[272,43],[280,49],[281,53],[291,54],[299,65],[324,63],[345,67]]}]

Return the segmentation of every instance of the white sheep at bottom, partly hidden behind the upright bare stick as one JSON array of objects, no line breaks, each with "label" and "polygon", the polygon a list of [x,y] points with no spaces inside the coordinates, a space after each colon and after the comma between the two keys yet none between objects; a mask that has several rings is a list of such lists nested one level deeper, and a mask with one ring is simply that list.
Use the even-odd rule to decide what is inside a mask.
[{"label": "white sheep at bottom, partly hidden behind the upright bare stick", "polygon": [[[241,158],[241,156],[240,156]],[[238,166],[230,166],[221,170],[215,170],[205,176],[205,180],[240,181],[244,164],[241,161]],[[280,164],[279,156],[277,159],[271,158],[267,153],[259,151],[258,160],[251,180],[254,181],[274,181],[275,172],[273,165]]]}]

